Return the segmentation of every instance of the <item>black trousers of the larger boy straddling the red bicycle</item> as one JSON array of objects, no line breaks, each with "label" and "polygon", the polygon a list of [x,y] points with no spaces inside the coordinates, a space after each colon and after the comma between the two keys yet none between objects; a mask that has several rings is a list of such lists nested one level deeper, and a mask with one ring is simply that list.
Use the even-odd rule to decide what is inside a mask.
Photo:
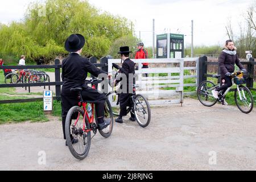
[{"label": "black trousers of the larger boy straddling the red bicycle", "polygon": [[[97,90],[94,90],[90,87],[83,88],[82,90],[82,99],[89,103],[95,104],[95,110],[97,118],[104,117],[104,104],[106,101],[105,94],[98,93]],[[69,90],[62,90],[61,92],[61,109],[62,109],[62,126],[63,126],[63,135],[65,137],[65,122],[69,109],[73,106],[77,106],[79,103],[78,94],[71,93]],[[71,137],[72,138],[72,137]]]}]

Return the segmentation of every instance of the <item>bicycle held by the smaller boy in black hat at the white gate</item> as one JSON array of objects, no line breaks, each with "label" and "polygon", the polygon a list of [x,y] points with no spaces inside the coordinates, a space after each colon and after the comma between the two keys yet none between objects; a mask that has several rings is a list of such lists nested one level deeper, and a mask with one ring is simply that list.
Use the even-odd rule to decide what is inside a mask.
[{"label": "bicycle held by the smaller boy in black hat at the white gate", "polygon": [[[114,68],[120,69],[117,64],[113,64]],[[118,72],[114,71],[114,78],[118,76]],[[112,106],[113,114],[118,116],[120,113],[120,106],[119,106],[119,94],[118,94],[118,84],[113,84],[113,90],[106,94],[107,97],[110,97],[112,101],[117,102],[115,106]],[[148,103],[147,99],[142,94],[136,94],[136,89],[139,88],[138,85],[133,85],[133,94],[130,97],[131,103],[133,103],[132,107],[127,108],[127,114],[133,113],[135,115],[136,121],[141,127],[147,127],[151,121],[151,109],[150,104]]]}]

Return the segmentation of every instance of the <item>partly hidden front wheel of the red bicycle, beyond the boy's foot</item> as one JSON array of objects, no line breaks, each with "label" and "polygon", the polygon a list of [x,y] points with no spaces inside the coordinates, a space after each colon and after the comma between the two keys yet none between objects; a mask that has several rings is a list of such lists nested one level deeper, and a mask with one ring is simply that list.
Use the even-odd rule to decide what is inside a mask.
[{"label": "partly hidden front wheel of the red bicycle, beyond the boy's foot", "polygon": [[[108,99],[105,102],[104,110],[105,110],[105,118],[111,119],[111,122],[110,122],[110,125],[108,127],[106,127],[103,130],[100,130],[99,132],[102,135],[102,137],[108,138],[112,134],[113,125],[114,125],[114,115],[113,115],[112,107],[111,107],[110,102],[109,102]],[[96,116],[96,118],[97,118],[97,116]]]}]

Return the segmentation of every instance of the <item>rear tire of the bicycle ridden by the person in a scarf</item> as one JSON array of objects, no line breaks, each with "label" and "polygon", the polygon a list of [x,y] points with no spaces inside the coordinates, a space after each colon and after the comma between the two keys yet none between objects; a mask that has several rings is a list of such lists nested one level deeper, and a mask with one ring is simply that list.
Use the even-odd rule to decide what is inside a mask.
[{"label": "rear tire of the bicycle ridden by the person in a scarf", "polygon": [[208,92],[208,89],[207,90],[203,90],[203,88],[205,87],[205,84],[210,84],[211,85],[209,89],[214,88],[216,86],[211,81],[203,81],[203,82],[201,82],[201,84],[197,88],[197,98],[199,99],[201,104],[203,104],[204,106],[212,107],[212,106],[214,106],[217,103],[218,99],[216,99],[213,96],[211,96],[210,98],[212,99],[212,101],[210,101],[210,102],[212,102],[212,103],[208,104],[208,102],[204,102],[203,99],[200,97],[202,95],[204,98],[206,98],[206,101],[207,101],[208,100],[208,96],[210,96],[210,94],[211,94],[209,92],[211,92],[212,90],[210,90],[209,92]]}]

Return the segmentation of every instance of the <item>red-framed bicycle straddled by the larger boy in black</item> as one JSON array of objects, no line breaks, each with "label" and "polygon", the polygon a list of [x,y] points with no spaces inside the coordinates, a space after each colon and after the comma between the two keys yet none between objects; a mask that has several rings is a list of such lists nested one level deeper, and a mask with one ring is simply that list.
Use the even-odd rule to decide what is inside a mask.
[{"label": "red-framed bicycle straddled by the larger boy in black", "polygon": [[[92,78],[90,81],[86,81],[87,84],[92,84],[92,88],[96,89],[96,85],[101,81]],[[85,159],[90,150],[90,143],[92,138],[97,134],[98,122],[97,115],[94,113],[94,104],[89,101],[82,100],[81,95],[82,88],[73,88],[71,92],[78,93],[80,99],[79,106],[72,107],[67,114],[65,121],[65,135],[67,138],[67,144],[71,154],[79,160]],[[100,130],[102,137],[108,138],[112,134],[114,117],[109,100],[105,102],[105,118],[110,118],[111,122],[104,130]],[[94,116],[95,115],[95,116]],[[95,118],[95,119],[94,119]],[[93,137],[91,137],[91,131]],[[79,140],[79,142],[72,144],[71,135],[73,138]]]}]

